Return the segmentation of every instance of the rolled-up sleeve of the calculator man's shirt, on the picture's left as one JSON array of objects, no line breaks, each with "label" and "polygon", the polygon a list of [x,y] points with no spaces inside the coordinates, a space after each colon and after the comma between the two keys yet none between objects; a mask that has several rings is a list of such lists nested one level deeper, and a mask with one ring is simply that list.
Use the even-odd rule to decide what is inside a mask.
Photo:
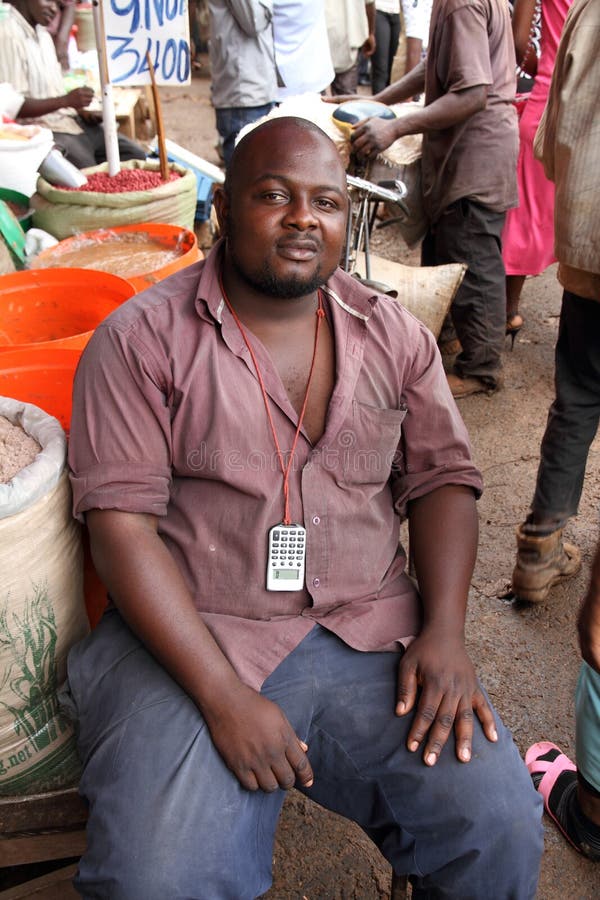
[{"label": "rolled-up sleeve of the calculator man's shirt, on the picture's left", "polygon": [[101,325],[73,387],[73,511],[164,516],[171,484],[168,366],[126,330]]}]

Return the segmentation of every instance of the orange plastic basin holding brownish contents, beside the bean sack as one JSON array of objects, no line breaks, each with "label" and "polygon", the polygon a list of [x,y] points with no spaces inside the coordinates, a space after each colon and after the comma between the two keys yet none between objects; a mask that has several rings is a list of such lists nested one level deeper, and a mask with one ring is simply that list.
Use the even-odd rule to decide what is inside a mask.
[{"label": "orange plastic basin holding brownish contents, beside the bean sack", "polygon": [[[129,258],[124,259],[123,254],[113,261],[108,254],[102,253],[102,244],[117,244],[120,235],[123,238],[130,238],[131,244],[126,244],[121,238],[121,245],[123,251],[130,247],[131,253]],[[135,243],[136,238],[139,238],[140,243]],[[156,251],[155,254],[144,254],[144,238],[147,246]],[[94,250],[97,251],[95,254],[97,261],[94,258]],[[167,262],[160,260],[161,250],[164,251],[163,256],[170,257]],[[39,253],[37,264],[44,267],[65,266],[64,260],[68,258],[67,265],[81,265],[94,270],[95,265],[99,265],[106,271],[126,278],[139,292],[156,284],[157,281],[162,281],[167,275],[172,275],[173,272],[197,262],[203,256],[193,231],[162,222],[142,222],[136,225],[84,231],[74,237],[65,238],[54,247]]]}]

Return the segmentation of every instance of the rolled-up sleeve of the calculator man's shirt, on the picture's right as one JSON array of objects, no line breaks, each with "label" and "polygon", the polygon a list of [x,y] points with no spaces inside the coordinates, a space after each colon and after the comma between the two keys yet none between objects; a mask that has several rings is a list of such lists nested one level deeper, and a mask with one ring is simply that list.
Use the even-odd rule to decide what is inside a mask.
[{"label": "rolled-up sleeve of the calculator man's shirt, on the picture's right", "polygon": [[403,387],[406,416],[392,472],[392,495],[404,518],[411,500],[448,484],[483,490],[471,458],[466,426],[448,388],[442,361],[430,333],[420,329],[417,350]]}]

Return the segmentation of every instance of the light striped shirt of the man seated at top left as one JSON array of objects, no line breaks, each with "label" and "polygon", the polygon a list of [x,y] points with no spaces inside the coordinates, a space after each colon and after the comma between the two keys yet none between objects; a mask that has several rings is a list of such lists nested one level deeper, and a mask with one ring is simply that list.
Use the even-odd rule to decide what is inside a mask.
[{"label": "light striped shirt of the man seated at top left", "polygon": [[[32,27],[13,6],[0,19],[0,82],[6,81],[25,97],[46,99],[65,93],[54,41],[42,25]],[[22,123],[44,125],[52,131],[81,134],[74,109],[60,109]]]}]

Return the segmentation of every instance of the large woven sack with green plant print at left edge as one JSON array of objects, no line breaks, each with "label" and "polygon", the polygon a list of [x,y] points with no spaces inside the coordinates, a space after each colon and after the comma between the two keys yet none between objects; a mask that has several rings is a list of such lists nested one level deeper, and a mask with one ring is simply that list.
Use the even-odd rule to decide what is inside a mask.
[{"label": "large woven sack with green plant print at left edge", "polygon": [[42,447],[0,484],[0,795],[15,796],[77,782],[75,735],[57,690],[88,623],[64,431],[18,400],[0,397],[0,415]]}]

